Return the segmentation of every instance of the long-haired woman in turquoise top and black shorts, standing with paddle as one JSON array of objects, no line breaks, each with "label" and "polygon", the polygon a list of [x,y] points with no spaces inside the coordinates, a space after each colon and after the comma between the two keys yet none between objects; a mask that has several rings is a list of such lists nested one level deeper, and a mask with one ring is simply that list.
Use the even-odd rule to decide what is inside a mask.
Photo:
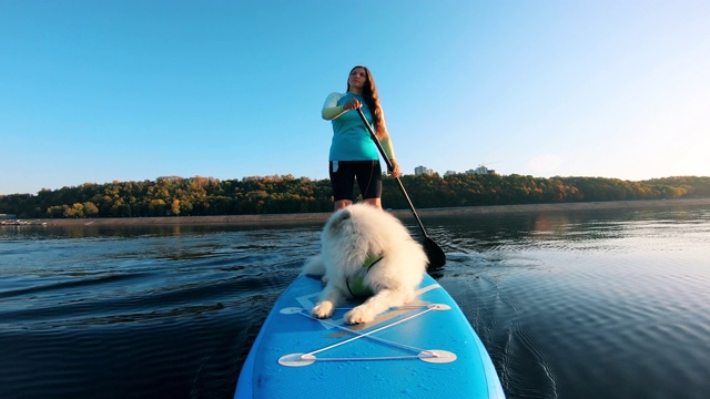
[{"label": "long-haired woman in turquoise top and black shorts, standing with paddle", "polygon": [[328,161],[335,211],[353,204],[355,178],[363,202],[382,209],[382,168],[377,146],[369,137],[357,109],[362,109],[367,121],[374,125],[375,135],[392,162],[393,167],[388,173],[395,177],[402,175],[373,75],[365,66],[355,66],[347,79],[347,92],[331,93],[325,99],[322,112],[323,119],[333,123]]}]

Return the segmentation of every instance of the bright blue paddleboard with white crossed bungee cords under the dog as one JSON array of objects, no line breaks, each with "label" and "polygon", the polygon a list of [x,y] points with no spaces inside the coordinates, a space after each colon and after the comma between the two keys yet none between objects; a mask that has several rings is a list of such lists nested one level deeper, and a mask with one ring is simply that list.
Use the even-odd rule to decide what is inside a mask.
[{"label": "bright blue paddleboard with white crossed bungee cords under the dog", "polygon": [[505,398],[483,342],[448,293],[425,275],[417,298],[373,323],[310,316],[321,282],[298,276],[268,314],[234,397]]}]

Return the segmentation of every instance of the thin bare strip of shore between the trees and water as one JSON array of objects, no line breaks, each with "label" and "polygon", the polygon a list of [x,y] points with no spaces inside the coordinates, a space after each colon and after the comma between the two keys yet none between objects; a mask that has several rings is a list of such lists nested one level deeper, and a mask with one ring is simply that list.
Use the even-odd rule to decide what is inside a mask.
[{"label": "thin bare strip of shore between the trees and water", "polygon": [[[417,215],[426,217],[448,217],[471,214],[500,214],[523,212],[560,212],[577,209],[643,208],[663,206],[709,205],[710,198],[687,200],[643,200],[608,201],[558,204],[490,205],[448,208],[420,208]],[[409,209],[394,209],[392,213],[402,218],[412,218]],[[165,216],[165,217],[112,217],[112,218],[40,218],[23,219],[29,225],[45,226],[161,226],[161,225],[301,225],[325,223],[331,213],[267,214],[267,215],[224,215],[224,216]]]}]

